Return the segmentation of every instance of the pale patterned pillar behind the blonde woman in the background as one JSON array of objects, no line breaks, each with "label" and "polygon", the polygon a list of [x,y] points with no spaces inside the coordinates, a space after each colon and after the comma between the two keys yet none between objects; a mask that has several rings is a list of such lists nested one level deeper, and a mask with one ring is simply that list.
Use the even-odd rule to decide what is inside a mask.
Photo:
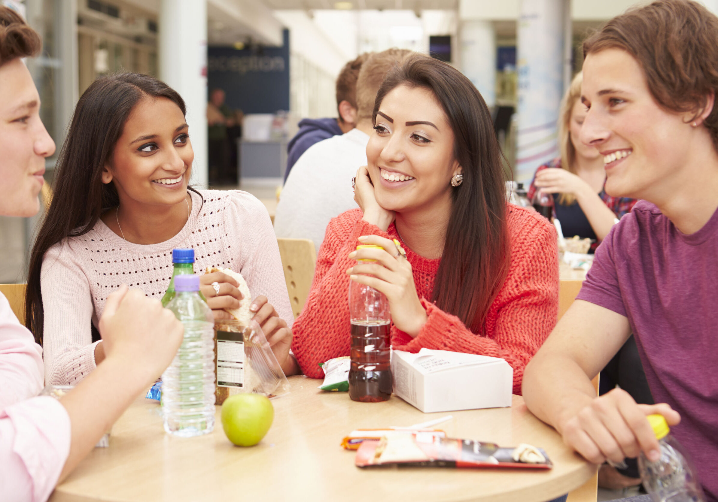
[{"label": "pale patterned pillar behind the blonde woman in the background", "polygon": [[522,0],[518,22],[518,148],[516,181],[558,155],[557,125],[564,92],[567,0]]}]

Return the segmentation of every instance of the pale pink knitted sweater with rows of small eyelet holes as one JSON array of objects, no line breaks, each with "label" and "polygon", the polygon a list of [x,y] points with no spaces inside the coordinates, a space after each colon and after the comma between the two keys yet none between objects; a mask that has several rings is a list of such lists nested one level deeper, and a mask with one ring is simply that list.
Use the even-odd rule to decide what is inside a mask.
[{"label": "pale pink knitted sweater with rows of small eyelet holes", "polygon": [[97,326],[107,295],[121,284],[162,298],[172,277],[172,249],[195,250],[195,273],[206,267],[240,272],[253,297],[266,295],[292,326],[279,247],[264,204],[243,191],[192,196],[192,214],[180,233],[159,244],[125,242],[101,220],[80,237],[52,246],[42,262],[42,306],[47,384],[77,384],[95,369],[90,322]]}]

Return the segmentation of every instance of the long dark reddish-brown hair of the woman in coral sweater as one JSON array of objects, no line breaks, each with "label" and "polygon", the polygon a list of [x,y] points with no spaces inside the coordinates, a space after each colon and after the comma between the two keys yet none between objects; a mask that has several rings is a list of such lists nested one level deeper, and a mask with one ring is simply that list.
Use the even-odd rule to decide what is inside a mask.
[{"label": "long dark reddish-brown hair of the woman in coral sweater", "polygon": [[454,157],[463,168],[464,181],[452,189],[452,212],[432,300],[472,332],[482,333],[510,259],[505,171],[491,114],[461,72],[432,57],[413,55],[387,73],[376,95],[375,123],[381,101],[399,85],[431,90],[454,131]]}]

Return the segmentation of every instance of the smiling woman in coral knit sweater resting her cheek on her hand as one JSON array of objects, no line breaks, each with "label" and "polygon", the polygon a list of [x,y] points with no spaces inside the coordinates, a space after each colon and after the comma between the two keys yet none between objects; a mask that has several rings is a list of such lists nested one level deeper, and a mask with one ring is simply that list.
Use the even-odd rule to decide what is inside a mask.
[{"label": "smiling woman in coral knit sweater resting her cheek on her hand", "polygon": [[[347,292],[355,280],[388,298],[394,349],[501,357],[520,393],[524,367],[556,323],[553,227],[505,201],[491,115],[453,67],[412,56],[386,76],[373,115],[368,166],[355,179],[360,209],[327,226],[294,321],[299,366],[319,378],[318,363],[349,355]],[[357,251],[360,244],[383,250]]]}]

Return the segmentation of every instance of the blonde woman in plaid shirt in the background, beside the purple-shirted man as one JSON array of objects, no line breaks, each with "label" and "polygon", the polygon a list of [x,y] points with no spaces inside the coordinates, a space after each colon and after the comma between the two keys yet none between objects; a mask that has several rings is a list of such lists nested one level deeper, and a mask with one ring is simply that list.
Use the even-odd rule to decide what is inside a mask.
[{"label": "blonde woman in plaid shirt in the background, beside the purple-shirted man", "polygon": [[579,140],[587,113],[581,103],[582,81],[582,74],[577,74],[561,100],[561,156],[538,166],[528,189],[528,198],[533,198],[537,189],[553,194],[554,217],[561,221],[564,235],[578,235],[582,239],[588,237],[600,242],[616,219],[630,212],[636,201],[606,194],[605,159],[595,146],[584,145]]}]

